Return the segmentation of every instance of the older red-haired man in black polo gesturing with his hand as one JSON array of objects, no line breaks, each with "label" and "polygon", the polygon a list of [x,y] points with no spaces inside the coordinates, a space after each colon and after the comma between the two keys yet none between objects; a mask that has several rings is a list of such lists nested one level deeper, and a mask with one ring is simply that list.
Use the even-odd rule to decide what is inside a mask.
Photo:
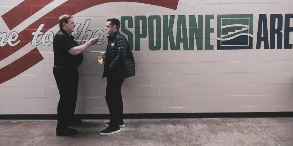
[{"label": "older red-haired man in black polo gesturing with his hand", "polygon": [[98,38],[90,39],[78,46],[71,35],[74,32],[74,20],[71,15],[59,17],[60,30],[53,40],[54,68],[53,74],[59,89],[57,136],[78,134],[77,130],[68,128],[70,124],[80,124],[81,120],[74,118],[78,90],[78,66],[82,62],[82,52],[97,43]]}]

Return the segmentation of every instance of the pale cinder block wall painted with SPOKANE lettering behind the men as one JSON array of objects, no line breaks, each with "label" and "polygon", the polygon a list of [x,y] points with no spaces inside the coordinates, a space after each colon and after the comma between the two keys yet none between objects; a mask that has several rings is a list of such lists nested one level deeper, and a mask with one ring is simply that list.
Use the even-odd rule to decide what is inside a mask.
[{"label": "pale cinder block wall painted with SPOKANE lettering behind the men", "polygon": [[[121,20],[120,31],[132,44],[136,61],[136,76],[126,78],[122,86],[124,113],[293,111],[291,0],[157,3],[165,7],[139,2],[1,0],[0,114],[57,113],[59,92],[52,74],[52,36],[45,34],[56,34],[58,17],[65,13],[74,16],[77,24],[74,37],[79,43],[101,36],[99,45],[83,53],[84,60],[78,68],[76,114],[109,113],[104,97],[107,83],[106,78],[102,79],[103,65],[96,59],[106,50],[108,18],[126,19]],[[243,21],[231,19],[235,17]],[[220,45],[224,49],[221,49],[217,41],[225,36],[221,33],[225,21],[238,26],[247,23],[248,30],[243,32],[244,39],[228,40],[226,46],[223,38]],[[40,24],[44,24],[40,28],[42,34],[33,38]],[[194,34],[190,29],[199,31]],[[13,40],[15,37],[9,38],[12,32],[18,34],[19,43]],[[250,43],[248,49],[244,49],[245,41]],[[31,53],[34,55],[27,57],[34,48],[37,48]],[[36,59],[38,52],[43,59]]]}]

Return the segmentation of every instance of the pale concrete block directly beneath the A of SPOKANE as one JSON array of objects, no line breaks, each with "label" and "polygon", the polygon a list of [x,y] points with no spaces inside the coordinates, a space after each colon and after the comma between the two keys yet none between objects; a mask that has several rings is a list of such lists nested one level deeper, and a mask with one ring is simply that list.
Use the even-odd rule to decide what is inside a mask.
[{"label": "pale concrete block directly beneath the A of SPOKANE", "polygon": [[170,51],[171,62],[194,62],[194,51],[190,50],[179,50]]}]

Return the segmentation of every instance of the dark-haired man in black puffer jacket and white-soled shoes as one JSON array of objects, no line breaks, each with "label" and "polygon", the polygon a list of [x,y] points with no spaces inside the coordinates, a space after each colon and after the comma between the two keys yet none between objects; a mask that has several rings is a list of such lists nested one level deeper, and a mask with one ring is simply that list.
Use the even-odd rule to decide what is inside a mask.
[{"label": "dark-haired man in black puffer jacket and white-soled shoes", "polygon": [[125,36],[120,34],[119,28],[118,19],[107,20],[106,30],[109,36],[107,36],[107,57],[103,78],[107,77],[106,102],[110,112],[110,122],[106,123],[108,128],[101,131],[101,135],[118,133],[121,131],[120,127],[124,127],[121,86],[124,78],[135,75],[132,51]]}]

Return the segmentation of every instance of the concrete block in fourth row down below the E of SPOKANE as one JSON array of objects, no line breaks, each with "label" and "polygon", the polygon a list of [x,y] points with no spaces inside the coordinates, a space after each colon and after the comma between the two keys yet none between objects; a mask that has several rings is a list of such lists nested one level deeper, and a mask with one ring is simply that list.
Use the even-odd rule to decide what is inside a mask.
[{"label": "concrete block in fourth row down below the E of SPOKANE", "polygon": [[228,95],[229,85],[206,85],[205,95],[216,96],[216,95]]}]

